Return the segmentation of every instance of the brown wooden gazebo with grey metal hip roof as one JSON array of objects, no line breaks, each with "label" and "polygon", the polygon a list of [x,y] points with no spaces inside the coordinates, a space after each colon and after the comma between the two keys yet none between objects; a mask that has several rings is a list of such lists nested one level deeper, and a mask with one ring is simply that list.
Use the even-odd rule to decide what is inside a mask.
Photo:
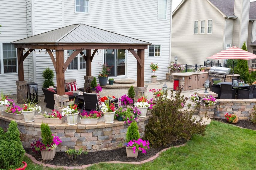
[{"label": "brown wooden gazebo with grey metal hip roof", "polygon": [[[41,33],[12,42],[18,51],[17,98],[24,97],[25,85],[23,61],[34,49],[46,50],[52,59],[57,78],[57,94],[65,95],[64,72],[70,62],[83,50],[86,61],[86,76],[91,76],[91,62],[98,49],[127,49],[137,59],[137,87],[144,88],[144,50],[151,43],[123,36],[110,31],[91,27],[86,24],[74,24],[56,30]],[[28,51],[23,54],[23,50]],[[91,50],[94,49],[93,53]],[[137,49],[137,53],[135,52]],[[55,50],[56,60],[52,54]],[[75,50],[64,62],[64,50]],[[140,90],[138,90],[140,91]],[[19,99],[18,99],[19,102]]]}]

